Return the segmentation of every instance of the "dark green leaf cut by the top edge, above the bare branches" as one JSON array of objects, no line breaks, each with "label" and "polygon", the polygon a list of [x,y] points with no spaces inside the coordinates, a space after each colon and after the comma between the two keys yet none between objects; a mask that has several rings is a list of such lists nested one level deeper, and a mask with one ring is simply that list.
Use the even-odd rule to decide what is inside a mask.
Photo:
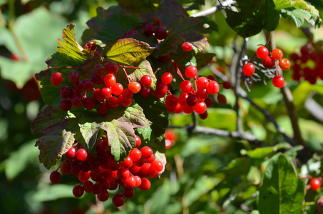
[{"label": "dark green leaf cut by the top edge, above the bare branches", "polygon": [[239,12],[226,9],[227,24],[242,37],[259,34],[262,29],[274,31],[280,21],[280,13],[270,0],[237,1]]}]

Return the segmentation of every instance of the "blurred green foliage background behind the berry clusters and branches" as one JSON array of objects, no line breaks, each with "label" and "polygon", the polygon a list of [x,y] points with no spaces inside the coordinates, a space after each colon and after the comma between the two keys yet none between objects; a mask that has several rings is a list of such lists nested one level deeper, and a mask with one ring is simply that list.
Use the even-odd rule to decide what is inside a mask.
[{"label": "blurred green foliage background behind the berry clusters and branches", "polygon": [[[180,1],[180,0],[179,0]],[[192,1],[180,1],[189,7]],[[203,1],[195,1],[200,4]],[[73,198],[72,188],[77,178],[63,176],[61,184],[51,185],[49,174],[39,163],[39,150],[34,147],[36,138],[30,133],[30,123],[44,107],[39,96],[39,83],[34,80],[34,73],[46,67],[44,61],[56,51],[56,39],[67,24],[76,23],[74,33],[81,42],[81,35],[86,29],[86,21],[96,16],[96,7],[116,5],[116,1],[0,1],[0,211],[1,213],[257,213],[257,190],[260,188],[265,164],[275,153],[281,151],[289,160],[295,160],[297,149],[290,148],[275,127],[264,115],[255,111],[249,102],[240,100],[240,113],[243,128],[258,140],[266,142],[269,151],[248,154],[258,145],[232,138],[205,136],[188,133],[184,129],[174,129],[178,139],[170,148],[166,157],[168,165],[160,180],[154,179],[152,188],[147,192],[138,191],[125,206],[118,210],[111,205],[111,200],[96,204],[93,195],[81,199]],[[205,1],[204,6],[190,11],[215,6],[216,1]],[[322,11],[321,1],[312,1]],[[217,61],[212,68],[222,68],[228,73],[232,61],[232,44],[235,31],[230,29],[221,12],[210,15],[217,23],[218,31],[207,36],[210,47],[207,51],[217,54]],[[299,53],[308,38],[304,31],[310,27],[305,24],[297,29],[286,19],[281,19],[275,30],[275,44],[287,56]],[[322,38],[322,28],[312,30],[314,42]],[[237,39],[242,44],[242,39]],[[257,44],[265,44],[263,33],[250,38],[247,44],[248,55],[252,56]],[[11,59],[11,54],[19,61]],[[219,67],[220,66],[220,67]],[[200,74],[210,74],[211,67],[202,68]],[[321,174],[321,152],[323,126],[312,116],[304,103],[307,98],[314,98],[323,106],[322,81],[311,85],[307,81],[294,82],[292,71],[284,73],[285,80],[294,96],[294,105],[299,116],[302,136],[307,145],[317,151],[309,154],[304,163],[295,163],[299,175]],[[261,108],[267,109],[284,128],[287,136],[293,135],[287,109],[284,106],[279,89],[267,81],[267,86],[257,82],[250,86],[248,96]],[[220,91],[227,96],[227,105],[215,104],[209,110],[207,120],[199,121],[200,126],[235,131],[236,114],[232,110],[235,104],[234,93]],[[184,114],[170,116],[171,126],[186,126],[193,123],[191,116]],[[54,170],[53,168],[51,170]],[[315,201],[322,196],[308,190],[306,204],[308,213],[316,212]],[[252,211],[253,210],[253,211]]]}]

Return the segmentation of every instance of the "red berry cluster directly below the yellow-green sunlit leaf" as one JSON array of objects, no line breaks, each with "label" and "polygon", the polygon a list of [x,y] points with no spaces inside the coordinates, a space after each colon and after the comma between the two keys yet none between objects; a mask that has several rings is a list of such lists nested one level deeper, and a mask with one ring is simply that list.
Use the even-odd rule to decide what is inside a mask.
[{"label": "red berry cluster directly below the yellow-green sunlit leaf", "polygon": [[[96,46],[96,44],[88,43],[86,44],[86,49],[94,51],[93,46]],[[125,68],[136,68],[118,66],[112,61],[103,61],[103,63],[98,63],[95,66],[89,78],[83,80],[80,79],[79,71],[76,69],[70,71],[68,81],[71,86],[63,86],[60,92],[63,98],[60,103],[61,109],[69,111],[72,106],[76,108],[83,106],[88,110],[96,108],[98,114],[104,116],[110,108],[118,108],[119,105],[125,108],[130,106],[133,93],[138,93],[141,86],[145,87],[143,91],[147,91],[147,88],[152,83],[152,78],[143,73],[140,79],[141,85],[138,82],[131,82],[128,78],[128,88],[123,88],[123,85],[116,81],[116,76],[114,75],[119,70],[119,67],[123,68],[123,71],[125,71]],[[136,69],[140,70],[140,68]],[[125,75],[128,77],[126,71]],[[60,72],[53,73],[51,76],[51,83],[54,86],[60,86],[62,81],[63,76]]]}]

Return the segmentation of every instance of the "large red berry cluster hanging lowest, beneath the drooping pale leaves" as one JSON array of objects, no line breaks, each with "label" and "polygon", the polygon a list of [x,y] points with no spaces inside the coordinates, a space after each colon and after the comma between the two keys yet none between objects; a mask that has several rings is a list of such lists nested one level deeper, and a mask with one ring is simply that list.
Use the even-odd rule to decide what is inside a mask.
[{"label": "large red berry cluster hanging lowest, beneath the drooping pale leaves", "polygon": [[[118,193],[113,196],[113,205],[119,207],[125,203],[125,198],[132,198],[135,187],[140,190],[148,190],[150,181],[148,178],[155,178],[163,171],[164,165],[155,160],[153,150],[148,146],[138,149],[141,140],[136,136],[135,148],[125,161],[116,163],[111,155],[111,147],[108,146],[108,138],[102,138],[96,146],[96,157],[76,142],[65,153],[65,161],[59,167],[64,175],[78,175],[81,184],[73,188],[73,195],[76,198],[86,193],[93,193],[98,200],[108,200],[108,190],[116,190]],[[51,183],[61,181],[61,173],[58,169],[50,175]],[[148,177],[148,178],[145,178]]]}]

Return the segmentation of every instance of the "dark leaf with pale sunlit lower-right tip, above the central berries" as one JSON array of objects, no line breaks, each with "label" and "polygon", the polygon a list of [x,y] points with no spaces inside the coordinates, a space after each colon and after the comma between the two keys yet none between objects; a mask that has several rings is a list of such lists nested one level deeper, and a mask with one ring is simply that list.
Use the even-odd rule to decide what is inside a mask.
[{"label": "dark leaf with pale sunlit lower-right tip, above the central berries", "polygon": [[160,45],[158,54],[163,56],[165,54],[177,53],[178,44],[190,42],[193,45],[195,53],[200,53],[208,44],[207,39],[200,31],[203,31],[204,21],[202,19],[187,17],[178,19],[170,27],[166,39]]}]

